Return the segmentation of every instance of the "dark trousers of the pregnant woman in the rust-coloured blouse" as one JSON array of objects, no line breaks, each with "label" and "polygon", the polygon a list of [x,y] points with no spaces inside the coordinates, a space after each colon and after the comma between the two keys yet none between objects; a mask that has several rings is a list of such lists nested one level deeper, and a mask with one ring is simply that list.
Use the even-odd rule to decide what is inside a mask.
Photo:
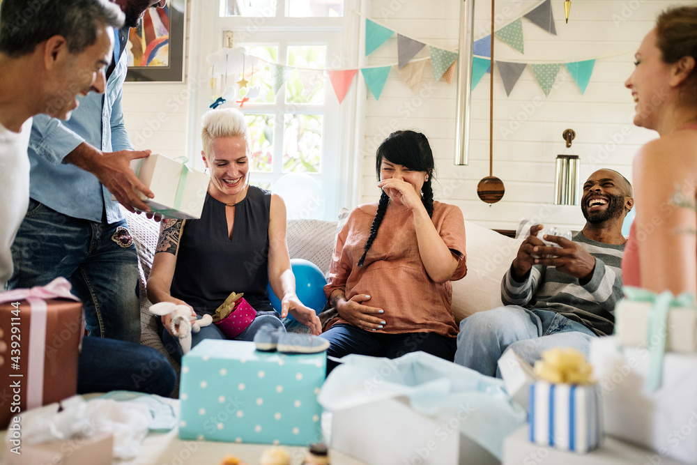
[{"label": "dark trousers of the pregnant woman in the rust-coloured blouse", "polygon": [[[362,330],[351,324],[335,324],[321,337],[329,341],[328,357],[342,358],[349,353],[399,358],[406,353],[422,351],[452,362],[455,341],[436,333],[385,334]],[[339,363],[327,359],[327,374]]]}]

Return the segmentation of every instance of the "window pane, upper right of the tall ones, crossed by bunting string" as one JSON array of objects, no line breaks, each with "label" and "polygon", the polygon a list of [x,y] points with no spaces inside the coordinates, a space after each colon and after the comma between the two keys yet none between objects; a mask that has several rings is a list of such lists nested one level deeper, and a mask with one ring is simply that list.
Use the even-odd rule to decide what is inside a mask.
[{"label": "window pane, upper right of the tall ones, crossed by bunting string", "polygon": [[324,103],[324,73],[314,69],[325,68],[326,60],[327,47],[324,45],[288,47],[288,64],[299,68],[298,73],[293,73],[286,82],[286,103]]}]

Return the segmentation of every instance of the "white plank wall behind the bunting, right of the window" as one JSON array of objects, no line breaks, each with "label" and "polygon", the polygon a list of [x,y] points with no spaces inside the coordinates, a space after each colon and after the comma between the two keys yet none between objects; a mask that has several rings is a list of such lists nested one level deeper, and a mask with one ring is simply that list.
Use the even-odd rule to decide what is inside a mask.
[{"label": "white plank wall behind the bunting, right of the window", "polygon": [[[475,0],[475,40],[491,29],[491,3]],[[390,29],[444,49],[457,48],[457,0],[373,0],[367,15]],[[498,0],[496,29],[539,5],[539,0]],[[562,132],[576,131],[566,153],[581,155],[581,183],[592,171],[611,167],[631,181],[631,160],[654,132],[631,124],[634,103],[623,83],[633,70],[634,52],[662,9],[694,1],[585,0],[574,1],[569,24],[563,1],[553,0],[558,35],[553,36],[523,18],[525,54],[496,40],[494,58],[504,61],[566,62],[600,58],[585,95],[581,95],[562,66],[549,97],[526,68],[511,95],[494,73],[493,174],[505,183],[506,194],[489,206],[477,197],[477,183],[489,175],[489,74],[472,93],[470,163],[454,166],[456,83],[434,82],[431,68],[424,71],[421,96],[413,94],[392,68],[380,100],[368,93],[365,105],[365,143],[362,202],[376,201],[375,147],[393,129],[415,129],[429,137],[436,156],[439,186],[436,199],[457,204],[465,218],[491,228],[514,229],[519,217],[537,216],[550,225],[578,229],[583,225],[579,206],[554,206],[554,162],[564,153]],[[426,47],[417,57],[427,56]],[[618,55],[619,54],[619,55]],[[618,56],[611,56],[618,55]],[[393,36],[367,57],[365,64],[394,63],[397,39]],[[362,80],[362,78],[361,78]],[[426,96],[426,98],[422,98]],[[506,131],[508,130],[508,131]]]}]

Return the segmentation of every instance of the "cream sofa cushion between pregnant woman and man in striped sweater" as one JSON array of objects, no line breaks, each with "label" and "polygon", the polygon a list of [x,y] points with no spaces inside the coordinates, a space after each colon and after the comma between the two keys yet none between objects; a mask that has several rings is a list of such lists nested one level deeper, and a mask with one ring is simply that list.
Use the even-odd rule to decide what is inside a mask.
[{"label": "cream sofa cushion between pregnant woman and man in striped sweater", "polygon": [[467,275],[452,282],[455,322],[501,303],[501,280],[523,239],[513,239],[465,220]]}]

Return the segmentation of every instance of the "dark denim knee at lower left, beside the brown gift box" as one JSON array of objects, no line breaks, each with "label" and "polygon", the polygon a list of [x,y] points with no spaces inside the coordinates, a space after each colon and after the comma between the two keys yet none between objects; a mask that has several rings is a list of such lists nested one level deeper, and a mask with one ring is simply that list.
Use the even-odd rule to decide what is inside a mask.
[{"label": "dark denim knee at lower left, beside the brown gift box", "polygon": [[152,347],[102,337],[84,337],[77,369],[77,392],[132,390],[167,397],[176,372]]}]

